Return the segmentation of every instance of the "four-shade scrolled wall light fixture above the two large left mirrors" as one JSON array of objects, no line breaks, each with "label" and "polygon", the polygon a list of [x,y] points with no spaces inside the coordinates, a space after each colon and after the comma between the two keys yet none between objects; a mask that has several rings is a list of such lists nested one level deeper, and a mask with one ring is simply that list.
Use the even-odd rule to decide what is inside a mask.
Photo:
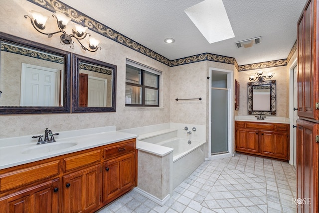
[{"label": "four-shade scrolled wall light fixture above the two large left mirrors", "polygon": [[[74,48],[74,40],[72,40],[73,38],[75,40],[77,40],[79,42],[79,44],[81,45],[82,49],[84,50],[88,50],[90,52],[95,52],[98,49],[101,49],[101,47],[98,47],[99,44],[99,40],[92,38],[91,35],[89,33],[86,33],[85,30],[88,27],[83,27],[81,25],[76,24],[75,25],[75,30],[72,29],[72,33],[73,34],[67,34],[65,32],[65,28],[66,25],[68,24],[68,22],[71,20],[71,18],[67,17],[65,14],[61,13],[61,12],[55,12],[55,14],[52,14],[52,16],[54,18],[56,18],[56,23],[58,26],[58,31],[56,32],[51,32],[51,33],[45,33],[42,30],[45,29],[45,23],[47,21],[47,19],[49,18],[49,16],[44,16],[39,12],[36,12],[34,10],[30,11],[30,13],[32,14],[32,18],[28,15],[24,15],[25,18],[30,18],[31,24],[34,27],[34,29],[36,29],[36,31],[38,31],[39,33],[42,33],[44,35],[47,35],[49,38],[52,37],[52,35],[56,34],[56,33],[61,33],[60,38],[61,41],[60,43],[62,45],[70,45],[70,47],[73,49]],[[89,36],[90,38],[88,39],[89,41],[89,48],[86,48],[80,40],[86,38],[87,36]]]}]

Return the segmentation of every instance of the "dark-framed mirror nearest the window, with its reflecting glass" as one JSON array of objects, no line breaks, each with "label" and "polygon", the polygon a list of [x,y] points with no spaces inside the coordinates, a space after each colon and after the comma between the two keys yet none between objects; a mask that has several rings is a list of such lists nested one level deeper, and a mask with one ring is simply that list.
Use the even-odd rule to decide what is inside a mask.
[{"label": "dark-framed mirror nearest the window, with its reflecting glass", "polygon": [[73,54],[72,112],[116,111],[116,65]]}]

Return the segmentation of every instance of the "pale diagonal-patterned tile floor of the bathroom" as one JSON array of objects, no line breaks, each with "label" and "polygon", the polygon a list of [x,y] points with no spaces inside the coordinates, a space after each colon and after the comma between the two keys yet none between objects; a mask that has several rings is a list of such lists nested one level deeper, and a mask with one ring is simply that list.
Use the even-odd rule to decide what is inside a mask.
[{"label": "pale diagonal-patterned tile floor of the bathroom", "polygon": [[98,213],[295,213],[296,170],[236,154],[205,161],[160,206],[131,191]]}]

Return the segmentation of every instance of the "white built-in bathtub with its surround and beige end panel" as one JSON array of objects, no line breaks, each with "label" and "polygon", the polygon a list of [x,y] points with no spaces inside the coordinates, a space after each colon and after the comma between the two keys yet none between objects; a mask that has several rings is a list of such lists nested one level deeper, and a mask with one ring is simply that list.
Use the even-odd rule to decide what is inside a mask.
[{"label": "white built-in bathtub with its surround and beige end panel", "polygon": [[172,190],[205,161],[205,125],[163,123],[120,131],[139,135],[135,190],[161,206]]}]

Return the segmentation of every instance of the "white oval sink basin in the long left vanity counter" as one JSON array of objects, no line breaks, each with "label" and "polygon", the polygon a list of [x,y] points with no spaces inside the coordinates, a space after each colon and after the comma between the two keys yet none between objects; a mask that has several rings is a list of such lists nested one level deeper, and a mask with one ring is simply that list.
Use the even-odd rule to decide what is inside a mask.
[{"label": "white oval sink basin in the long left vanity counter", "polygon": [[36,154],[36,153],[47,153],[53,152],[57,150],[62,150],[66,148],[70,148],[72,146],[77,145],[75,142],[64,142],[64,143],[47,143],[47,144],[37,144],[32,145],[32,147],[26,148],[22,150],[22,154]]}]

